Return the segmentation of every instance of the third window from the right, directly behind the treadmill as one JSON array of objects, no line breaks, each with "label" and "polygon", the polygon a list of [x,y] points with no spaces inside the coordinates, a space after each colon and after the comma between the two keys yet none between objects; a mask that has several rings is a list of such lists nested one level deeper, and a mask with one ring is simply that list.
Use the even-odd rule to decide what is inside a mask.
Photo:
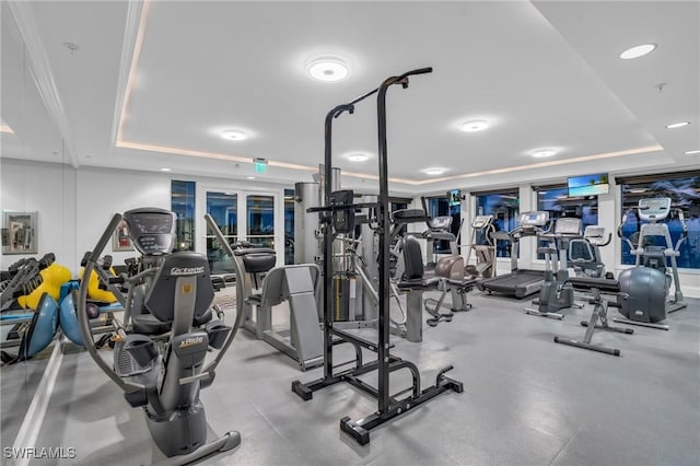
[{"label": "third window from the right, directly behind the treadmill", "polygon": [[[517,226],[520,214],[520,198],[517,189],[501,193],[476,194],[477,215],[493,215],[495,231],[510,232]],[[476,244],[485,244],[483,237],[476,237]],[[511,257],[511,243],[498,241],[495,243],[497,257]]]}]

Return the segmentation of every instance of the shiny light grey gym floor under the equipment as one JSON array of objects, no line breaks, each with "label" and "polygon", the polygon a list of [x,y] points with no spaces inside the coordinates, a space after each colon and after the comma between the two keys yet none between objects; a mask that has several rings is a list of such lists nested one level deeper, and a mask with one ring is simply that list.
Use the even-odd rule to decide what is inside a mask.
[{"label": "shiny light grey gym floor under the equipment", "polygon": [[[237,430],[243,440],[202,464],[700,464],[700,300],[687,299],[686,310],[669,315],[668,331],[596,331],[594,341],[619,348],[619,358],[552,341],[555,335],[582,338],[579,322],[588,319],[590,305],[564,310],[563,321],[552,321],[524,314],[527,299],[475,290],[469,301],[474,310],[452,323],[425,326],[422,343],[393,339],[394,353],[421,369],[424,386],[452,363],[448,375],[464,383],[464,393],[447,392],[375,429],[366,446],[340,432],[339,421],[373,412],[372,398],[337,384],[303,401],[291,392],[292,381],[317,378],[322,370],[301,372],[290,358],[241,330],[201,398],[213,432]],[[273,316],[283,321],[284,314],[279,308]],[[362,334],[371,338],[373,330]],[[74,447],[77,457],[59,464],[162,459],[143,413],[129,408],[84,351],[69,343],[62,351],[35,446]],[[26,410],[15,398],[31,396],[20,395],[18,386],[36,384],[44,366],[39,358],[2,369],[3,445],[11,444]],[[394,376],[394,392],[407,386],[406,374]]]}]

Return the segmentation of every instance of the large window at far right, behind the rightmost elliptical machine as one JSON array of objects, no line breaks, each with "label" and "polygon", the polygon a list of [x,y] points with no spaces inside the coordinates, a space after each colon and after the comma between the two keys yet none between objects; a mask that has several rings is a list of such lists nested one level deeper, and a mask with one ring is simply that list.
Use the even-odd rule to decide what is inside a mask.
[{"label": "large window at far right, behind the rightmost elliptical machine", "polygon": [[[676,258],[678,267],[700,269],[700,173],[681,173],[655,175],[653,177],[621,178],[618,183],[622,189],[622,212],[628,212],[627,223],[621,232],[626,237],[639,233],[645,221],[640,221],[637,206],[640,199],[649,197],[669,197],[673,209],[684,212],[688,236],[680,245],[680,256]],[[620,217],[621,218],[621,217]],[[664,220],[668,225],[673,246],[682,235],[680,220],[674,214]],[[655,238],[654,238],[655,240]],[[661,240],[661,238],[658,238]],[[661,245],[665,242],[661,240]],[[633,256],[626,242],[622,242],[622,264],[634,264]]]}]

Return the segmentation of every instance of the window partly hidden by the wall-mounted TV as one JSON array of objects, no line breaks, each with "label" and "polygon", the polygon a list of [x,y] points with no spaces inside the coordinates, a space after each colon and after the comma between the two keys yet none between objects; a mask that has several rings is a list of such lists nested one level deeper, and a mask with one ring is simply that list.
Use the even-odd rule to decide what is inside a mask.
[{"label": "window partly hidden by the wall-mounted TV", "polygon": [[[548,186],[537,189],[537,210],[546,210],[549,212],[549,220],[553,222],[562,217],[573,217],[581,219],[583,230],[588,225],[598,224],[598,197],[581,196],[569,197],[569,188],[562,186]],[[539,246],[547,246],[546,241],[540,241]],[[538,259],[544,259],[541,254],[537,255]]]}]

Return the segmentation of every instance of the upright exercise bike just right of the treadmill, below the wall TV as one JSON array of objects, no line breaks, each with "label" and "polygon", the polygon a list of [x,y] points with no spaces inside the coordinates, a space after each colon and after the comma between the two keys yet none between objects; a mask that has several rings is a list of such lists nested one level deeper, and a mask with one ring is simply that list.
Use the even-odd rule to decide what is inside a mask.
[{"label": "upright exercise bike just right of the treadmill, below the wall TV", "polygon": [[[537,308],[526,307],[525,313],[539,317],[561,321],[564,316],[557,311],[565,307],[583,307],[574,303],[573,287],[569,282],[567,254],[569,242],[581,238],[581,219],[562,217],[555,222],[553,233],[541,233],[539,238],[548,240],[549,245],[538,247],[537,253],[545,255],[545,282],[539,298],[533,301]],[[555,259],[559,255],[559,260]]]}]

